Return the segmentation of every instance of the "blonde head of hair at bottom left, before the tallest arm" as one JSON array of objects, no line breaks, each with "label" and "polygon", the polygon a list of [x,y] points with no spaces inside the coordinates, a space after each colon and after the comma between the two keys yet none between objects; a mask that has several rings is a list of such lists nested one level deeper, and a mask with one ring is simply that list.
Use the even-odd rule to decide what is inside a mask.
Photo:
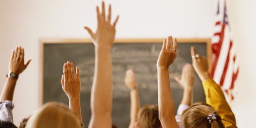
[{"label": "blonde head of hair at bottom left, before the tallest arm", "polygon": [[29,118],[26,128],[81,128],[81,124],[64,104],[48,102]]}]

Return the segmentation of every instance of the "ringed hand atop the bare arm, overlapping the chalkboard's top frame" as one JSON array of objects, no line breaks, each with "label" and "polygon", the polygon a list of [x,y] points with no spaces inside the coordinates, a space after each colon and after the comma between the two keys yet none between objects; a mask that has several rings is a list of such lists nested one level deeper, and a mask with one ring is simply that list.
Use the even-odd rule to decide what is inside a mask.
[{"label": "ringed hand atop the bare arm, overlapping the chalkboard's top frame", "polygon": [[157,60],[157,68],[169,68],[177,57],[177,40],[172,40],[172,36],[163,41],[163,46]]}]

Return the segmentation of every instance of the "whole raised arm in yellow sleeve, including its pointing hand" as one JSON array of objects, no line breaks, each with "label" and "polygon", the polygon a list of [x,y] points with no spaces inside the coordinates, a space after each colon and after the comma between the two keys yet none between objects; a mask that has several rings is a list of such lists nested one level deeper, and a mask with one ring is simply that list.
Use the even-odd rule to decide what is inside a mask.
[{"label": "whole raised arm in yellow sleeve, including its pointing hand", "polygon": [[194,47],[191,47],[191,56],[194,70],[203,84],[206,103],[219,113],[225,128],[237,128],[235,115],[225,99],[221,86],[210,76],[207,59],[196,54]]}]

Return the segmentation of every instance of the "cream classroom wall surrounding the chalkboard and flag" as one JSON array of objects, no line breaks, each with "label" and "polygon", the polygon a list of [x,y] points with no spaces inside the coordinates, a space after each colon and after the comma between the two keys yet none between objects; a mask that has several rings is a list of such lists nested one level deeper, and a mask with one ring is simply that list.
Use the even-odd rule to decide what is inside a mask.
[{"label": "cream classroom wall surrounding the chalkboard and flag", "polygon": [[[212,36],[214,0],[106,0],[119,14],[116,38],[208,38]],[[234,43],[240,60],[238,95],[232,104],[238,127],[252,127],[256,108],[253,35],[256,34],[254,0],[227,0]],[[96,29],[95,6],[100,0],[0,0],[0,90],[15,46],[32,59],[20,75],[13,102],[14,122],[39,107],[39,39],[89,38],[83,26]],[[249,61],[248,61],[249,60]],[[250,109],[249,109],[250,108]]]}]

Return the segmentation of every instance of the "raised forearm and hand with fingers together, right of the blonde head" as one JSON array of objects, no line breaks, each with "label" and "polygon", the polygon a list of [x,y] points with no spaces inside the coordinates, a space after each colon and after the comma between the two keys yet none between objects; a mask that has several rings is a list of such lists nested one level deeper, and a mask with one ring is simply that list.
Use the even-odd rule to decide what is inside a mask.
[{"label": "raised forearm and hand with fingers together, right of the blonde head", "polygon": [[79,79],[79,68],[74,71],[74,64],[67,62],[63,66],[63,74],[61,79],[62,89],[68,96],[69,109],[72,110],[79,121],[82,123],[81,107],[80,107],[80,90],[81,82]]}]

